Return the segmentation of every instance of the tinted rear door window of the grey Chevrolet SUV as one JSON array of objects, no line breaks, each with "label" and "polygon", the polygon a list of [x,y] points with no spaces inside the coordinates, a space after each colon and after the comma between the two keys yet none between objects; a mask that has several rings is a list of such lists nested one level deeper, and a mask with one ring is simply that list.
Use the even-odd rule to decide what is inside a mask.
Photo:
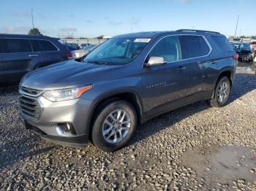
[{"label": "tinted rear door window of the grey Chevrolet SUV", "polygon": [[182,58],[196,58],[208,54],[209,48],[202,36],[182,35],[179,38]]}]

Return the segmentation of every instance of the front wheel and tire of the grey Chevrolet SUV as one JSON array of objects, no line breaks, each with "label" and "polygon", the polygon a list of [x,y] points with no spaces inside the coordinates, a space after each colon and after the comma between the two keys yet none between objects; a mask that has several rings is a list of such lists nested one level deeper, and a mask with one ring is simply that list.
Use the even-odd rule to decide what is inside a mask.
[{"label": "front wheel and tire of the grey Chevrolet SUV", "polygon": [[[118,114],[119,120],[117,120]],[[124,117],[123,120],[122,117]],[[137,114],[134,107],[127,101],[113,101],[104,106],[97,114],[91,132],[92,142],[102,151],[116,151],[128,144],[135,132],[136,125]],[[111,134],[113,135],[111,136]]]}]

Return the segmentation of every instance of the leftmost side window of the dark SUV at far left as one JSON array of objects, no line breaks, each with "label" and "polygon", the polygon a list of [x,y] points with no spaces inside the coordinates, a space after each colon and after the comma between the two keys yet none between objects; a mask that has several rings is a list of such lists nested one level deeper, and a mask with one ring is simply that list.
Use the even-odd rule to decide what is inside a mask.
[{"label": "leftmost side window of the dark SUV at far left", "polygon": [[4,39],[4,53],[31,52],[29,39]]}]

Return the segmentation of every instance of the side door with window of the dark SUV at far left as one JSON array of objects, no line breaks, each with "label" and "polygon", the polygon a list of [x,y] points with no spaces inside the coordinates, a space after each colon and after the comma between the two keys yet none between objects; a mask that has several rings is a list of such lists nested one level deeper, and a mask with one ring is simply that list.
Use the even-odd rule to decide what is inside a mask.
[{"label": "side door with window of the dark SUV at far left", "polygon": [[32,52],[29,39],[4,39],[2,68],[8,85],[17,85],[26,72],[41,61],[39,52]]}]

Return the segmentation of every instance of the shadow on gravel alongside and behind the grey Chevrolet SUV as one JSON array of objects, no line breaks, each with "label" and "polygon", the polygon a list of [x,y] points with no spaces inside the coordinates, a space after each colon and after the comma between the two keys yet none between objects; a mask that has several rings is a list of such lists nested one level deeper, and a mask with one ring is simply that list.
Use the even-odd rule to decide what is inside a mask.
[{"label": "shadow on gravel alongside and behind the grey Chevrolet SUV", "polygon": [[[236,74],[235,82],[233,84],[233,88],[230,94],[229,104],[231,104],[233,101],[236,101],[236,99],[238,98],[241,99],[241,96],[255,89],[255,74]],[[153,136],[160,130],[164,130],[165,128],[171,128],[171,126],[174,125],[176,122],[184,120],[185,118],[192,116],[193,114],[196,114],[198,112],[202,112],[203,110],[209,109],[210,107],[211,106],[209,106],[206,101],[199,101],[194,104],[183,106],[179,109],[175,109],[171,112],[159,115],[158,117],[154,117],[152,120],[149,120],[145,124],[138,126],[134,138],[132,139],[132,141],[130,141],[130,145],[135,144],[136,142],[143,139],[147,139],[149,136]]]}]

